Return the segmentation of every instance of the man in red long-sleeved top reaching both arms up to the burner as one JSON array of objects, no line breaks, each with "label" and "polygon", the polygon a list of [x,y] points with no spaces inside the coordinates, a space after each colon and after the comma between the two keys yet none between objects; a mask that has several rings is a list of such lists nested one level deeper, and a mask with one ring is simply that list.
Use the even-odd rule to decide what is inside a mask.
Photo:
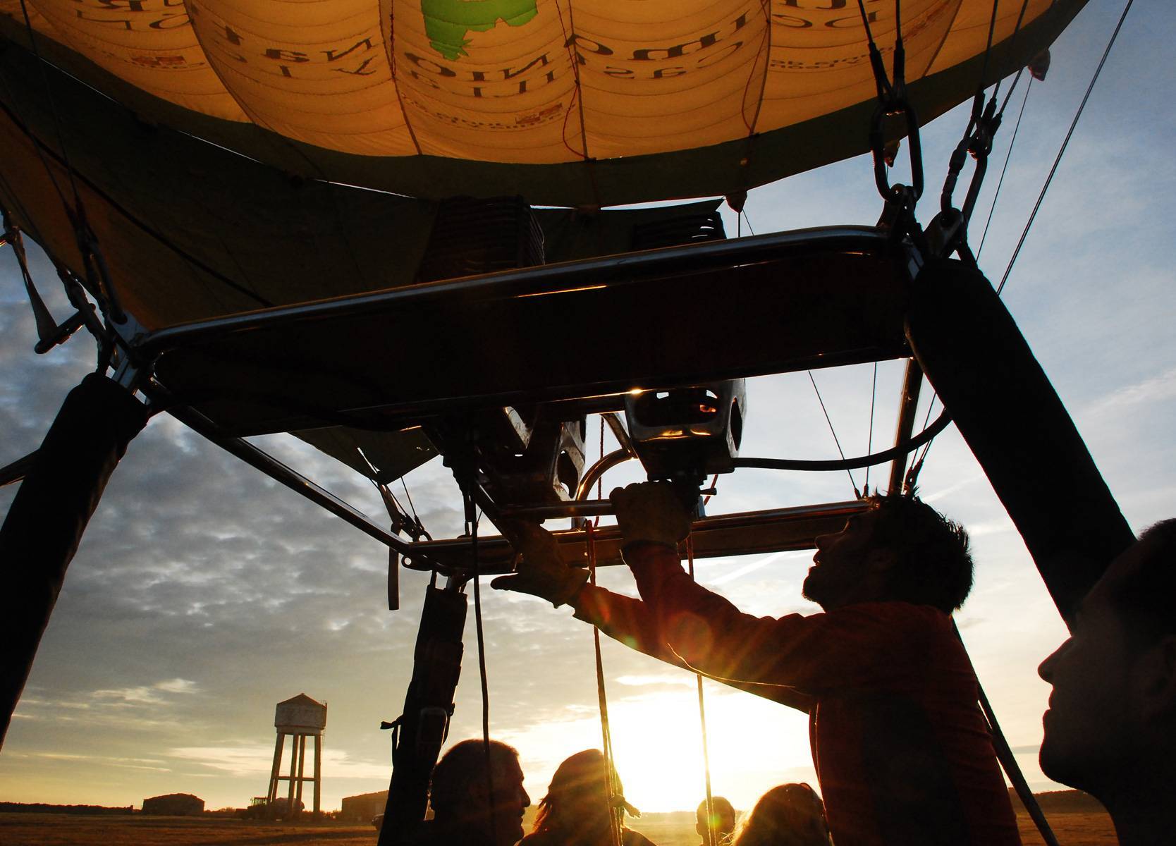
[{"label": "man in red long-sleeved top reaching both arms up to the burner", "polygon": [[911,497],[870,498],[816,539],[802,592],[824,613],[756,618],[682,569],[690,521],[670,486],[630,485],[612,500],[643,601],[586,585],[537,526],[516,527],[522,562],[494,585],[570,604],[612,637],[720,680],[787,691],[771,698],[809,712],[837,846],[1021,842],[949,617],[971,589],[963,528]]}]

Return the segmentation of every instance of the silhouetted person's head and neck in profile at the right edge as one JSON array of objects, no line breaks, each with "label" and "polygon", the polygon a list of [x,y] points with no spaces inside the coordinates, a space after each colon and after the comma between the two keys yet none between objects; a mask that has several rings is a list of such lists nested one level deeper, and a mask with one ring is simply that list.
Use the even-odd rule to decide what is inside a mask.
[{"label": "silhouetted person's head and neck in profile at the right edge", "polygon": [[1176,807],[1176,519],[1116,558],[1073,637],[1038,673],[1054,686],[1041,768],[1107,806],[1122,846],[1172,841]]}]

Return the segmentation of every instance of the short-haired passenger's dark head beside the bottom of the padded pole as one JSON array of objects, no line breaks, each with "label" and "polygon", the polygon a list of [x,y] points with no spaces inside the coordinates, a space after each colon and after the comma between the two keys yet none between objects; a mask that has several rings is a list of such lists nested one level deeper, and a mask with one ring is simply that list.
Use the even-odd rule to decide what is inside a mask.
[{"label": "short-haired passenger's dark head beside the bottom of the padded pole", "polygon": [[483,741],[455,744],[433,767],[429,805],[439,824],[468,832],[481,842],[509,846],[522,838],[522,814],[530,797],[522,786],[519,752],[492,740],[489,753],[487,784]]}]

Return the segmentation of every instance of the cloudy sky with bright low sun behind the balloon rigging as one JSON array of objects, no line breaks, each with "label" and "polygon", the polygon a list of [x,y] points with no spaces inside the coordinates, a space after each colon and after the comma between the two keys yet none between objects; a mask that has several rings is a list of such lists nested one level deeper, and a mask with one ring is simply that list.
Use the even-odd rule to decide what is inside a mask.
[{"label": "cloudy sky with bright low sun behind the balloon rigging", "polygon": [[[1004,272],[1121,11],[1118,2],[1090,2],[1054,46],[1047,81],[1030,89],[980,255],[990,278]],[[1176,286],[1168,253],[1176,242],[1176,160],[1165,154],[1176,136],[1168,96],[1174,40],[1164,6],[1135,5],[1003,294],[1136,531],[1176,514]],[[974,249],[1024,84],[997,136]],[[924,224],[965,119],[956,109],[924,128]],[[862,156],[755,189],[747,220],[736,224],[728,212],[726,222],[729,235],[749,227],[762,234],[870,224],[880,208]],[[52,268],[35,249],[32,259],[41,293],[65,314]],[[697,331],[704,337],[704,327]],[[85,333],[44,357],[33,354],[34,340],[15,260],[0,252],[0,464],[36,448],[68,389],[93,369]],[[864,453],[873,366],[814,375],[846,453]],[[878,366],[875,448],[893,439],[901,379],[901,362]],[[920,420],[930,394],[924,389]],[[807,374],[749,380],[748,402],[743,455],[836,457]],[[1017,426],[1016,408],[1008,425]],[[590,444],[595,426],[590,420]],[[333,459],[285,435],[255,440],[368,514],[383,514],[370,485]],[[873,471],[869,484],[884,485],[886,472]],[[607,475],[606,491],[637,479],[636,467],[623,465]],[[864,481],[855,471],[855,484]],[[457,489],[440,461],[407,485],[434,537],[461,531]],[[15,489],[0,488],[0,512]],[[713,514],[853,497],[844,473],[741,471],[721,478],[719,489]],[[958,625],[1030,785],[1056,788],[1036,762],[1049,693],[1036,667],[1064,627],[954,427],[934,442],[921,491],[971,532],[976,585]],[[711,559],[697,562],[697,578],[750,613],[811,612],[800,598],[809,558]],[[389,738],[379,724],[400,713],[426,586],[423,574],[402,572],[403,607],[389,612],[386,567],[376,541],[167,415],[154,418],[114,473],[69,567],[0,752],[0,800],[139,806],[145,797],[185,792],[211,808],[243,806],[266,792],[274,704],[303,692],[328,704],[323,807],[386,788]],[[622,568],[601,581],[634,593]],[[482,614],[492,735],[519,748],[537,801],[559,761],[601,744],[592,631],[567,608],[489,588]],[[452,741],[481,732],[473,608],[466,635]],[[603,666],[626,797],[647,811],[693,808],[703,795],[694,677],[610,641]],[[782,781],[815,784],[802,714],[713,682],[706,710],[714,790],[736,807]]]}]

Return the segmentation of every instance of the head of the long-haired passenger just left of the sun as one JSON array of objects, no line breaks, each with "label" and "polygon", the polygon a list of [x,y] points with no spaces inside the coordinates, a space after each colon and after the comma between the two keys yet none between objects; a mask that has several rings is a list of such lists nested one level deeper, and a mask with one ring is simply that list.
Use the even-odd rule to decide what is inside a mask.
[{"label": "head of the long-haired passenger just left of the sun", "polygon": [[[564,760],[552,777],[547,795],[539,802],[534,830],[559,838],[575,835],[586,842],[607,837],[613,812],[609,777],[616,797],[621,797],[621,779],[607,766],[600,750],[584,750]],[[623,804],[623,807],[636,814],[632,805]]]}]

